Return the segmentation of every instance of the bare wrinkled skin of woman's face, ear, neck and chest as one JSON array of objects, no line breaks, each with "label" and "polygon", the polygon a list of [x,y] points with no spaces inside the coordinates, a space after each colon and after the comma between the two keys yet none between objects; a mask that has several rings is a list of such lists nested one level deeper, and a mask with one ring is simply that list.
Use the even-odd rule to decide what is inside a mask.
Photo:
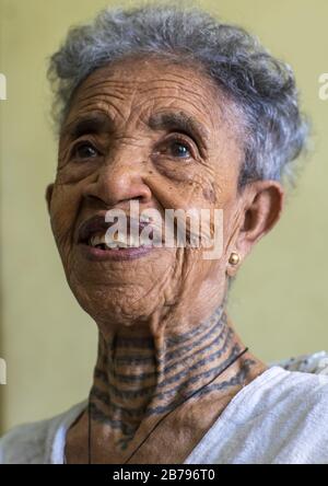
[{"label": "bare wrinkled skin of woman's face, ear, neck and chest", "polygon": [[[183,134],[174,127],[150,127],[149,117],[161,111],[184,112],[197,119],[207,139],[203,135],[196,138],[195,134]],[[89,129],[83,135],[72,135],[77,120],[90,114],[98,116],[99,127],[93,132]],[[183,150],[183,157],[176,154],[176,137],[178,143],[188,149]],[[77,152],[74,147],[82,140],[92,146]],[[243,130],[237,112],[196,65],[173,65],[155,57],[116,61],[94,71],[73,97],[60,137],[57,177],[47,189],[47,200],[67,279],[99,332],[96,368],[102,372],[95,373],[93,386],[97,386],[103,396],[106,394],[106,400],[97,402],[95,397],[103,419],[99,414],[92,416],[93,462],[124,462],[152,430],[161,415],[141,414],[137,423],[133,419],[133,432],[125,438],[124,425],[131,425],[131,420],[125,415],[124,405],[130,407],[136,403],[141,408],[154,408],[160,404],[156,386],[164,383],[164,390],[169,390],[164,366],[168,362],[167,338],[195,329],[224,304],[227,277],[235,276],[255,243],[279,219],[283,200],[280,184],[257,181],[238,190],[242,162]],[[133,261],[86,259],[77,243],[79,225],[112,208],[128,211],[131,200],[138,200],[141,210],[156,208],[161,212],[165,208],[223,209],[222,257],[204,261],[198,248],[153,248]],[[232,252],[241,256],[237,266],[229,263]],[[215,358],[219,367],[233,356],[234,346],[239,350],[244,348],[231,323],[221,324],[214,331],[218,339],[227,328],[231,334],[224,352]],[[152,345],[144,352],[152,356],[153,361],[128,362],[132,351],[119,347],[118,343],[122,342],[118,337],[130,339],[129,349],[137,343],[136,338],[151,339]],[[136,350],[140,351],[138,343]],[[195,342],[195,349],[197,346]],[[127,362],[116,363],[117,356],[124,356]],[[203,361],[201,371],[213,366],[213,361]],[[184,390],[188,392],[209,382],[203,373],[200,381],[192,384],[189,380],[195,374],[190,371],[192,362],[196,358],[190,356],[189,362],[178,363],[186,383]],[[223,386],[172,412],[133,460],[183,462],[231,398],[265,369],[249,352],[244,355],[215,381],[223,383],[242,370],[243,379],[237,385]],[[110,393],[113,383],[117,390],[127,389],[120,375],[136,375],[131,386],[138,391],[150,383],[143,377],[151,371],[154,375],[149,394],[136,401],[121,395],[121,400],[115,402]],[[101,380],[101,375],[107,378]],[[174,395],[165,398],[165,406],[174,408]],[[114,419],[121,420],[122,426],[115,428]],[[171,441],[176,444],[174,451],[167,447]],[[125,447],[119,445],[122,442]],[[84,413],[68,433],[68,462],[86,462],[86,444]]]}]

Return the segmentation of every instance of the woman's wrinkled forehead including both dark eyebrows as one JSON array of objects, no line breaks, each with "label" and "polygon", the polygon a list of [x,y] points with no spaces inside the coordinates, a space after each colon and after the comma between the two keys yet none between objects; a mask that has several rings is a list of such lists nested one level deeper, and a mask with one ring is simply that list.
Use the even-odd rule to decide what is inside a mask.
[{"label": "woman's wrinkled forehead including both dark eyebrows", "polygon": [[124,60],[90,74],[72,100],[63,132],[101,125],[110,131],[129,123],[133,128],[185,131],[203,144],[215,141],[229,117],[223,108],[227,102],[220,100],[212,81],[190,66],[152,60],[141,70],[139,63]]}]

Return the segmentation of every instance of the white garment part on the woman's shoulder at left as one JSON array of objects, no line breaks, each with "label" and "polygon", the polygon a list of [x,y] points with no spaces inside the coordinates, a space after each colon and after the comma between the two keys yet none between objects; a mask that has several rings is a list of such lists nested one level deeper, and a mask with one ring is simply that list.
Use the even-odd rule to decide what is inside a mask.
[{"label": "white garment part on the woman's shoulder at left", "polygon": [[[56,436],[63,445],[67,427],[85,405],[81,402],[55,417],[13,427],[0,438],[0,464],[47,464],[56,454]],[[58,442],[58,440],[57,440]]]}]

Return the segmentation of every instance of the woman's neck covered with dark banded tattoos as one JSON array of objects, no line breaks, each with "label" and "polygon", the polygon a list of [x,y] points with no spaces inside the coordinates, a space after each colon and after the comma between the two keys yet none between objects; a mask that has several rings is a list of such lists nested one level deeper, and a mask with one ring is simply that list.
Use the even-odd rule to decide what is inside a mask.
[{"label": "woman's neck covered with dark banded tattoos", "polygon": [[[164,332],[153,336],[127,328],[106,339],[99,334],[90,394],[92,421],[105,429],[108,426],[112,443],[125,451],[141,425],[153,424],[176,408],[243,349],[223,306],[191,331],[171,337]],[[224,394],[230,383],[245,379],[246,368],[236,367],[227,381],[226,375],[222,381],[215,379],[215,386]],[[201,393],[212,390],[206,387]]]}]

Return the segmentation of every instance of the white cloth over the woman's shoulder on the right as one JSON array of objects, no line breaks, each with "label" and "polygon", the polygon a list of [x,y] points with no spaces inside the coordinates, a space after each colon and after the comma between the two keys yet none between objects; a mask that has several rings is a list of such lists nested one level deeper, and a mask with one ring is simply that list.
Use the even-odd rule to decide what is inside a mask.
[{"label": "white cloth over the woman's shoulder on the right", "polygon": [[316,372],[290,361],[242,389],[186,463],[328,464],[328,359]]}]

